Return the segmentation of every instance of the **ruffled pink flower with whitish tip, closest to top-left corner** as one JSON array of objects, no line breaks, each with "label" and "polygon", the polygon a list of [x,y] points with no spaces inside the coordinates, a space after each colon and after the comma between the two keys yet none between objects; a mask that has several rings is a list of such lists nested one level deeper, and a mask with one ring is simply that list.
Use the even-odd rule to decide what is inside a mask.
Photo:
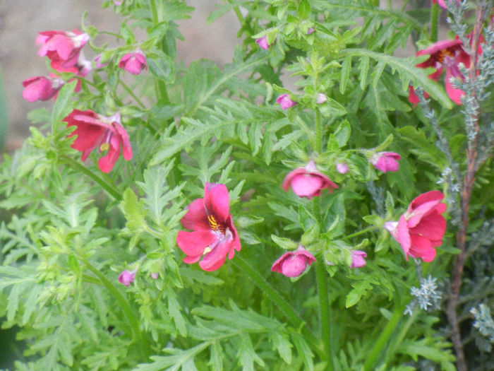
[{"label": "ruffled pink flower with whitish tip, closest to top-left corner", "polygon": [[59,71],[59,68],[76,66],[80,49],[88,40],[89,35],[79,30],[44,31],[36,37],[36,43],[41,45],[37,54],[46,55],[52,61],[52,68]]}]

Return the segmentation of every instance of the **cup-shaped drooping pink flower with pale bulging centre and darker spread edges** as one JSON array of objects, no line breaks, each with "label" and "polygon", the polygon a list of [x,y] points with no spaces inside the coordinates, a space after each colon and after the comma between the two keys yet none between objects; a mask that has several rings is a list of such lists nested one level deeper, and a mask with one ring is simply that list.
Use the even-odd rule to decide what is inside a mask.
[{"label": "cup-shaped drooping pink flower with pale bulging centre and darker spread edges", "polygon": [[290,187],[297,196],[308,199],[313,196],[320,196],[323,189],[327,188],[330,193],[333,189],[338,189],[338,186],[330,178],[318,172],[314,160],[310,160],[306,167],[297,167],[295,170],[291,170],[284,177],[282,188],[288,192]]}]

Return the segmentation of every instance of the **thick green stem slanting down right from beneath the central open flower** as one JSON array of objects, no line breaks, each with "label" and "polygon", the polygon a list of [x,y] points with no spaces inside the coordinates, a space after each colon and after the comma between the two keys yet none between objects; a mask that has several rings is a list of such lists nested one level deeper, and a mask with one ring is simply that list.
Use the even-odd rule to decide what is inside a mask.
[{"label": "thick green stem slanting down right from beneath the central open flower", "polygon": [[[301,331],[301,333],[306,336],[307,340],[311,345],[315,348],[318,353],[320,353],[320,347],[318,346],[318,341],[316,340],[314,334],[308,327],[306,326],[306,321],[304,321],[299,314],[297,314],[294,310],[294,308],[291,307],[291,305],[288,304],[287,300],[285,300],[282,295],[280,295],[277,290],[272,288],[272,286],[267,283],[267,281],[261,276],[258,271],[253,269],[251,264],[246,261],[246,259],[243,259],[243,257],[240,256],[240,254],[236,254],[235,258],[231,260],[234,265],[237,266],[243,273],[246,273],[246,276],[248,278],[251,278],[251,280],[260,288],[263,290],[267,298],[270,298],[272,302],[275,303],[275,305],[283,312],[283,314],[289,319],[289,322],[296,328]],[[320,353],[322,355],[323,353]]]}]

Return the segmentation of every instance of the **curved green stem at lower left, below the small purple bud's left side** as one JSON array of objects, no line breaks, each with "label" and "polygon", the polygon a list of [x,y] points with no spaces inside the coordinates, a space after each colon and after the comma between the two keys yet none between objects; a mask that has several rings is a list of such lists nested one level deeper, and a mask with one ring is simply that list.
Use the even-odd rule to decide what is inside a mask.
[{"label": "curved green stem at lower left, below the small purple bud's left side", "polygon": [[100,281],[104,285],[105,288],[109,291],[109,293],[112,294],[112,296],[115,298],[115,300],[119,303],[123,315],[127,318],[128,323],[131,325],[132,333],[133,336],[132,338],[135,341],[135,344],[138,346],[139,351],[141,355],[143,355],[143,358],[147,360],[148,356],[150,355],[150,346],[149,343],[147,343],[147,338],[143,335],[143,333],[140,331],[140,325],[138,319],[135,317],[131,306],[128,304],[127,300],[123,298],[123,295],[120,293],[120,291],[114,286],[114,284],[109,281],[109,279],[104,276],[103,273],[98,271],[95,266],[92,266],[89,261],[85,259],[81,259],[85,266],[92,271],[92,273],[95,273],[95,276],[97,278],[100,278]]}]

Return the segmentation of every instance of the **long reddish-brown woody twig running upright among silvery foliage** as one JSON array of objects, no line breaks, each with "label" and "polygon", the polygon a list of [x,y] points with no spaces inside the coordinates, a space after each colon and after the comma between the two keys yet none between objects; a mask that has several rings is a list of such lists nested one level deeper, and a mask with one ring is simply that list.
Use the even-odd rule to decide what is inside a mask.
[{"label": "long reddish-brown woody twig running upright among silvery foliage", "polygon": [[[477,59],[478,59],[478,45],[480,42],[481,32],[483,28],[484,20],[486,19],[486,0],[483,0],[481,5],[478,6],[476,11],[476,22],[474,27],[474,33],[471,39],[471,65],[469,68],[469,81],[475,83],[477,73]],[[476,92],[472,89],[472,97],[476,102]],[[466,365],[465,354],[463,351],[462,334],[459,331],[459,318],[457,309],[459,306],[459,292],[462,285],[463,269],[467,257],[466,251],[466,230],[469,226],[469,209],[471,192],[475,181],[476,172],[476,158],[477,158],[477,145],[478,145],[478,115],[474,117],[474,136],[469,140],[469,145],[466,150],[466,173],[464,176],[463,190],[462,190],[462,223],[459,225],[457,231],[457,247],[460,253],[457,255],[452,272],[452,281],[450,296],[447,303],[447,319],[451,326],[451,340],[453,343],[454,353],[457,356],[457,370],[466,371],[468,367]]]}]

